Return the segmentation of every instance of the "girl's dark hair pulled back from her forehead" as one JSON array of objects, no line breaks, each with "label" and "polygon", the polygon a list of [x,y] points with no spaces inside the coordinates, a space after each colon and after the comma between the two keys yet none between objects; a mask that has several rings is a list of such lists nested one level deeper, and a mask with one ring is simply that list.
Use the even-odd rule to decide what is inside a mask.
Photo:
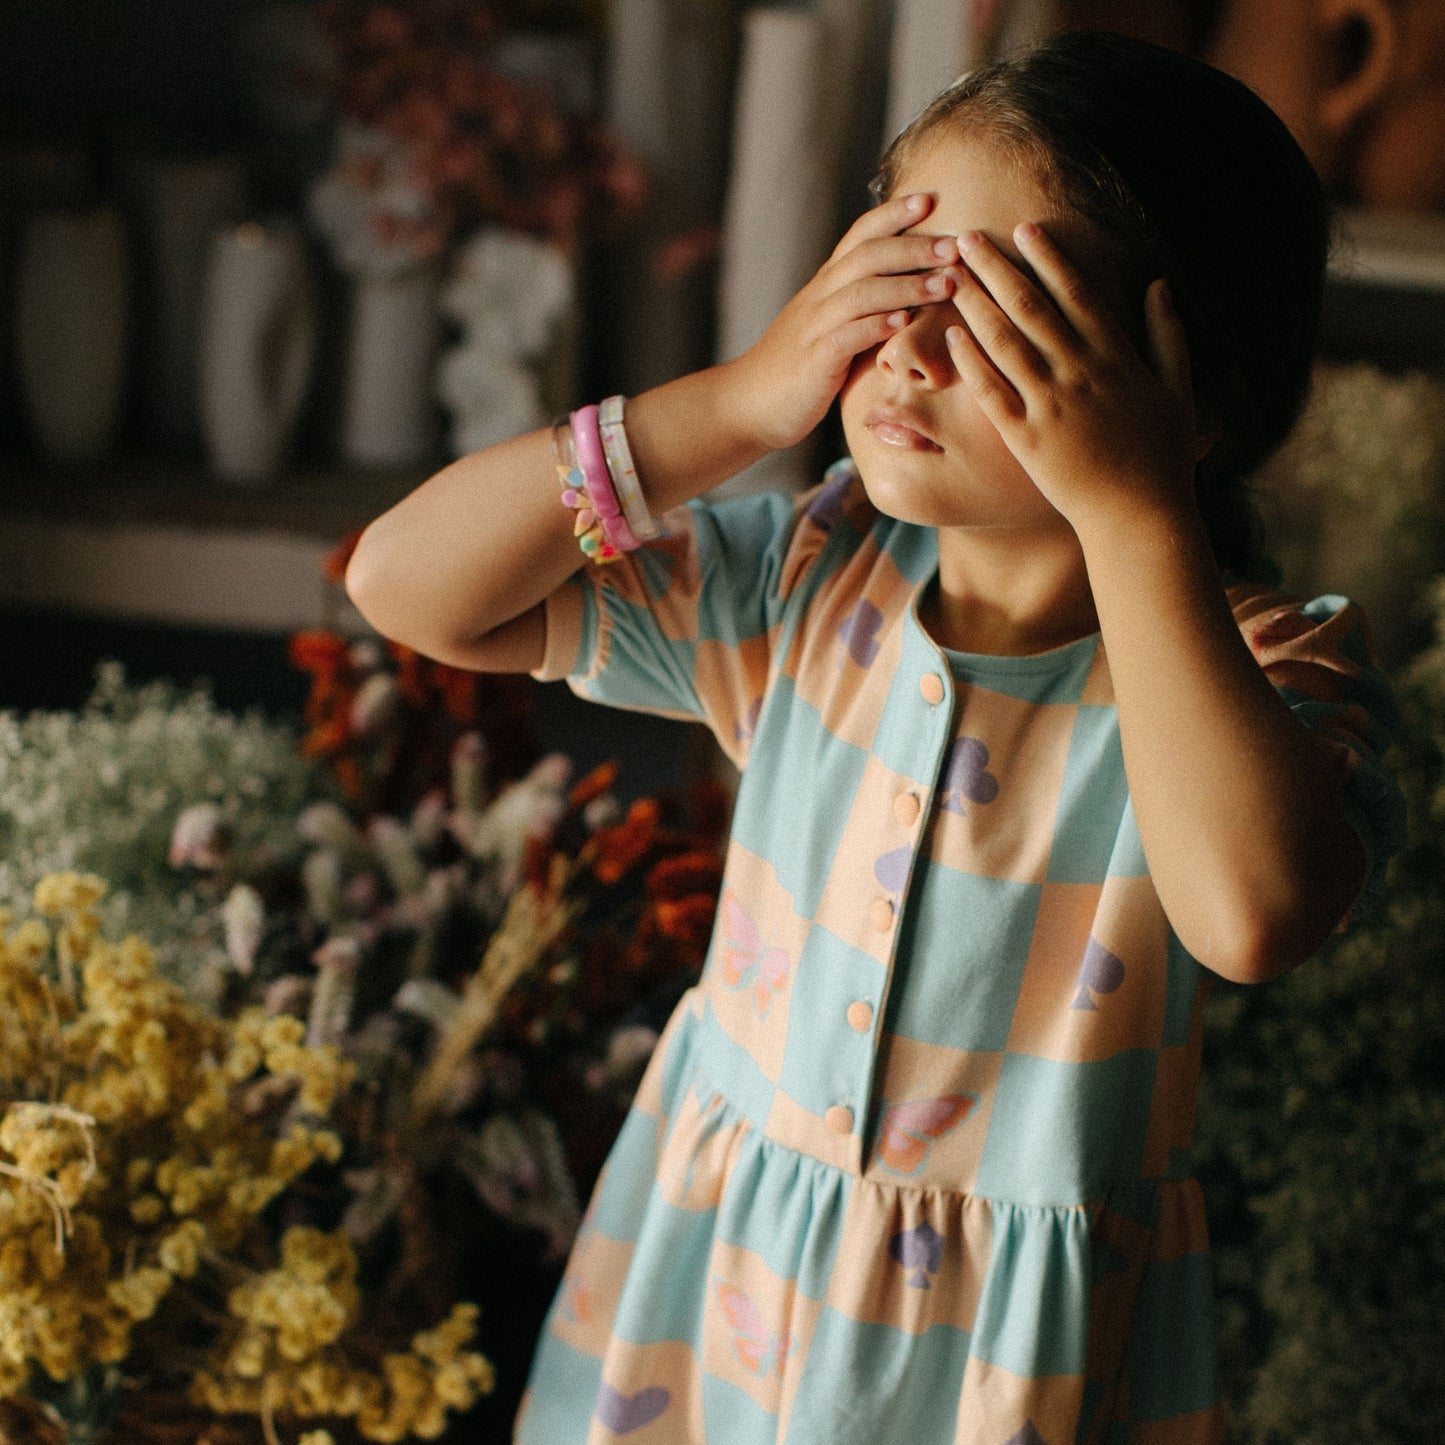
[{"label": "girl's dark hair pulled back from her forehead", "polygon": [[1169,280],[1201,425],[1199,510],[1221,566],[1260,565],[1247,478],[1309,390],[1329,210],[1285,123],[1240,81],[1146,40],[1071,32],[965,75],[893,142],[889,194],[939,126],[980,127],[1123,249],[1131,289]]}]

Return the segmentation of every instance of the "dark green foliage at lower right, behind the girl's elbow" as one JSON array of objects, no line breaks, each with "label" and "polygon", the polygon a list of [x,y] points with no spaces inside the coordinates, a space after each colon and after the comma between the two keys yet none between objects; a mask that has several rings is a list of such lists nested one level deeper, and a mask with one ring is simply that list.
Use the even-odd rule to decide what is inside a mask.
[{"label": "dark green foliage at lower right, behind the girl's elbow", "polygon": [[1386,905],[1211,1000],[1198,1166],[1231,1445],[1445,1439],[1445,585],[1397,679]]}]

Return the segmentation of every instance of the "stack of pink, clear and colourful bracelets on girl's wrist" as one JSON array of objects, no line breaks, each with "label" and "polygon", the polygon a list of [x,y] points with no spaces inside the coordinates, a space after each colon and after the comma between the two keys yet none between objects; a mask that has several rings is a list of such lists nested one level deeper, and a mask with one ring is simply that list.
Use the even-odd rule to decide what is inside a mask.
[{"label": "stack of pink, clear and colourful bracelets on girl's wrist", "polygon": [[592,562],[616,562],[657,536],[637,481],[623,397],[584,406],[552,428],[562,501],[577,512],[572,533]]}]

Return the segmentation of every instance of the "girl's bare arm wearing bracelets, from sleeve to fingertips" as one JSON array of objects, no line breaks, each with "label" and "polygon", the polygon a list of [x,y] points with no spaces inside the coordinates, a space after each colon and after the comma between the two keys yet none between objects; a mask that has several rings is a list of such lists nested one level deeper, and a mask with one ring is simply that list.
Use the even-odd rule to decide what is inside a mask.
[{"label": "girl's bare arm wearing bracelets, from sleeve to fingertips", "polygon": [[[952,241],[902,236],[932,205],[899,197],[863,215],[743,357],[627,403],[627,438],[652,512],[715,487],[822,420],[853,358],[936,299]],[[452,666],[532,670],[539,603],[581,565],[558,497],[552,435],[464,457],[377,517],[347,591],[377,631]]]}]

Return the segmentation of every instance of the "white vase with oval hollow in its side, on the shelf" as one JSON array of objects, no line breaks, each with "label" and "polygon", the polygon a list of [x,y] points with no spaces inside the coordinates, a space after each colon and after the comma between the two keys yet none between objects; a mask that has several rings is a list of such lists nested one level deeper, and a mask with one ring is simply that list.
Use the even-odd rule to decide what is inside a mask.
[{"label": "white vase with oval hollow in its side, on the shelf", "polygon": [[240,486],[282,467],[316,351],[316,306],[293,227],[211,241],[201,311],[201,426],[214,474]]}]

